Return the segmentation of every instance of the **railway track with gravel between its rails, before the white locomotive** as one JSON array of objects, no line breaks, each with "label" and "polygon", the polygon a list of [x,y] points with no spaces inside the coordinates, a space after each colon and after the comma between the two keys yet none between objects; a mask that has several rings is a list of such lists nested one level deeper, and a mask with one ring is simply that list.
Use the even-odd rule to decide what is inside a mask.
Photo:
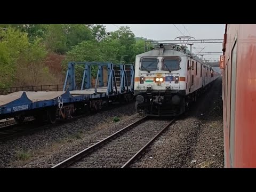
[{"label": "railway track with gravel between its rails, before the white locomotive", "polygon": [[174,121],[143,117],[52,168],[129,167]]}]

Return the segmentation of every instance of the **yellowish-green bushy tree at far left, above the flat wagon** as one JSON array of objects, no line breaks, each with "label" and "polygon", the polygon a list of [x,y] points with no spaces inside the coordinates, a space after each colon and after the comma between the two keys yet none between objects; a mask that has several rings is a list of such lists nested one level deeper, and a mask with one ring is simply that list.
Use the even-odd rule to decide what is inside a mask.
[{"label": "yellowish-green bushy tree at far left, above the flat wagon", "polygon": [[47,51],[42,38],[29,41],[28,34],[9,27],[0,30],[0,87],[36,85],[52,77],[42,61]]}]

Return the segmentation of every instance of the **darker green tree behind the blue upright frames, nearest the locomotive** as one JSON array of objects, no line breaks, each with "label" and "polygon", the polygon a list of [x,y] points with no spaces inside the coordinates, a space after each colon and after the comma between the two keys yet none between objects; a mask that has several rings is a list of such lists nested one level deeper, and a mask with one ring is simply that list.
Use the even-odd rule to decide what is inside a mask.
[{"label": "darker green tree behind the blue upright frames, nearest the locomotive", "polygon": [[[127,54],[128,57],[124,57],[123,62],[132,63],[135,61],[135,55],[144,52],[145,43],[143,39],[137,41],[129,27],[121,27],[111,33],[110,36],[106,36],[106,29],[103,26],[93,26],[92,30],[93,35],[96,36],[94,41],[83,41],[67,52],[67,57],[62,63],[64,73],[66,73],[68,61],[111,61],[119,63],[122,55]],[[99,30],[98,36],[97,30]],[[83,69],[83,66],[76,67],[78,84],[81,83]],[[92,76],[96,77],[98,68],[93,66],[91,71]]]}]

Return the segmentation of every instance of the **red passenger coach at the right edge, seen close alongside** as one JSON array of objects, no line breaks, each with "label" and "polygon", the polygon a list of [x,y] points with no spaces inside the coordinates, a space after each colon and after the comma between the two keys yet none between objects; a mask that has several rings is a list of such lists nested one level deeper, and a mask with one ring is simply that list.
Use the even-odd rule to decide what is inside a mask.
[{"label": "red passenger coach at the right edge, seen close alongside", "polygon": [[256,25],[226,25],[220,68],[225,167],[256,167]]}]

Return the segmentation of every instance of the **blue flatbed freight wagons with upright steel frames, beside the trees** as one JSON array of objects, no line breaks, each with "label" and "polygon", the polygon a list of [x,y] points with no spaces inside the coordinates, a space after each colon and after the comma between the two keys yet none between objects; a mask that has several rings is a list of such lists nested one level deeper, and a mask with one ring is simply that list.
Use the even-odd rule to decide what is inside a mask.
[{"label": "blue flatbed freight wagons with upright steel frames, beside the trees", "polygon": [[[77,89],[75,64],[84,65],[81,89]],[[98,67],[94,86],[91,83],[92,66]],[[103,71],[104,66],[107,68],[106,74]],[[126,70],[127,68],[129,70]],[[129,77],[127,77],[127,74],[129,74]],[[104,75],[107,77],[106,85],[103,82]],[[90,110],[90,108],[100,109],[102,101],[122,98],[127,94],[131,96],[133,94],[133,84],[133,65],[114,65],[110,62],[70,62],[63,91],[18,91],[0,95],[0,119],[12,117],[23,119],[28,115],[35,115],[37,118],[38,116],[40,118],[40,116],[50,115],[51,119],[55,119],[54,114],[66,118],[78,108],[84,108],[85,110]]]}]

